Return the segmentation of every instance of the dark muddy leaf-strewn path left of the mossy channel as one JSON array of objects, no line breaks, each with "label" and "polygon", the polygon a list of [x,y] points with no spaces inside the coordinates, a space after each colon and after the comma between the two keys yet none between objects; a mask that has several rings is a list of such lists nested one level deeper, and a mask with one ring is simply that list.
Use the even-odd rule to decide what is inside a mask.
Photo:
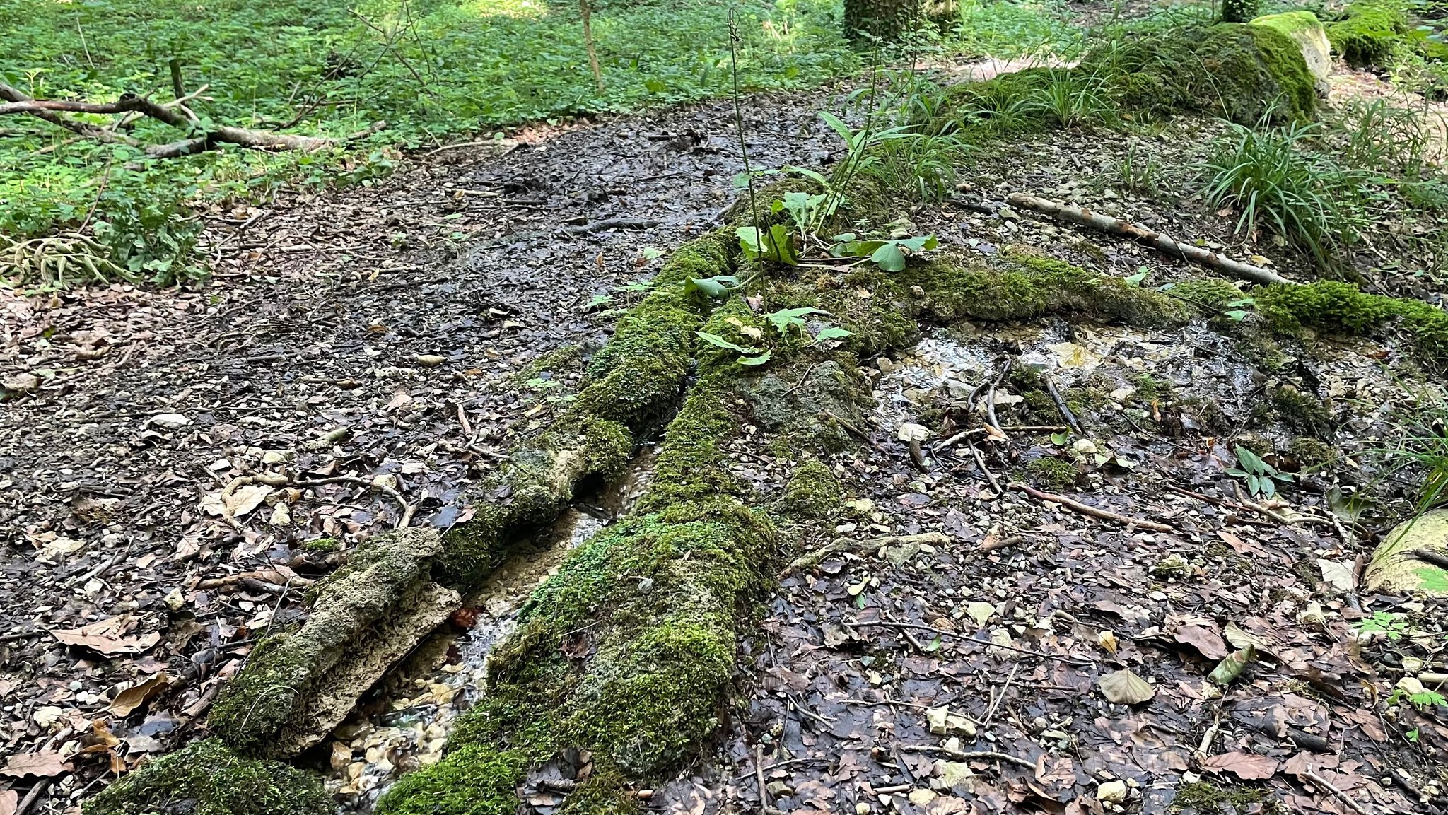
[{"label": "dark muddy leaf-strewn path left of the mossy channel", "polygon": [[[827,164],[825,98],[746,100],[754,166]],[[460,489],[568,398],[568,349],[607,337],[608,310],[711,226],[743,169],[727,103],[492,152],[214,223],[217,276],[198,292],[4,295],[0,371],[41,385],[0,415],[0,757],[70,753],[109,728],[122,769],[185,741],[249,643],[300,614],[300,586],[336,559],[307,541],[346,549],[394,525],[375,479],[417,524],[466,517]],[[243,489],[222,510],[227,483],[281,460],[303,481],[363,481]],[[48,634],[117,618],[96,647]],[[159,675],[149,705],[110,706]],[[107,754],[49,795],[78,798]]]}]

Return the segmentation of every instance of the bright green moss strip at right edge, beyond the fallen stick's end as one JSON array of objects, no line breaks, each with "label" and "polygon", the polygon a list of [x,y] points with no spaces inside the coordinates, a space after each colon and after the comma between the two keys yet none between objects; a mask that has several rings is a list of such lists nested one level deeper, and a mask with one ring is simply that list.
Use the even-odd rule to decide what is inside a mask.
[{"label": "bright green moss strip at right edge, beyond the fallen stick's end", "polygon": [[1420,300],[1367,294],[1337,281],[1270,285],[1254,292],[1254,300],[1267,324],[1284,334],[1297,333],[1303,326],[1365,334],[1396,324],[1413,339],[1431,366],[1448,369],[1448,311]]}]

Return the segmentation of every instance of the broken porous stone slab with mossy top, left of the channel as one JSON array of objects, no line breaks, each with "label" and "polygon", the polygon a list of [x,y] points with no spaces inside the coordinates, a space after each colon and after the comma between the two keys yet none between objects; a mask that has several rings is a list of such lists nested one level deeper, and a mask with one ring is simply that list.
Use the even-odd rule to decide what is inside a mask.
[{"label": "broken porous stone slab with mossy top, left of the channel", "polygon": [[304,624],[256,644],[222,688],[209,725],[237,753],[294,756],[327,737],[358,699],[449,614],[458,592],[430,579],[437,530],[372,537],[311,589]]}]

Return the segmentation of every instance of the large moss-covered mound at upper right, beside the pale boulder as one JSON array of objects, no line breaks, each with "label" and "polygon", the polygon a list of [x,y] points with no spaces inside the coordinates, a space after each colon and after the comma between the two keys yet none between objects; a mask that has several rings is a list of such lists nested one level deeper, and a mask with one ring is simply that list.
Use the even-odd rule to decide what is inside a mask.
[{"label": "large moss-covered mound at upper right, beside the pale boulder", "polygon": [[1318,100],[1292,38],[1267,26],[1222,23],[1128,35],[1087,52],[1073,68],[1028,68],[954,85],[948,113],[933,126],[953,122],[1011,133],[1072,124],[1060,120],[1061,97],[1092,100],[1066,106],[1086,119],[1206,113],[1242,124],[1264,116],[1310,119]]}]

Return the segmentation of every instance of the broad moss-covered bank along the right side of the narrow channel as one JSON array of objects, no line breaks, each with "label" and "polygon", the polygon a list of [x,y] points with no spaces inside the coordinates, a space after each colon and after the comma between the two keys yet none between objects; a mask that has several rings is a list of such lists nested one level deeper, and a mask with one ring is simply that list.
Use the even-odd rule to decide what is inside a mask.
[{"label": "broad moss-covered bank along the right side of the narrow channel", "polygon": [[[749,316],[734,301],[710,329]],[[634,802],[624,777],[656,777],[712,735],[734,675],[737,624],[765,585],[775,544],[721,449],[740,426],[743,375],[730,352],[701,353],[650,492],[529,599],[447,757],[398,782],[379,814],[513,812],[527,767],[566,747],[592,751],[595,770],[565,811],[627,811]]]}]

